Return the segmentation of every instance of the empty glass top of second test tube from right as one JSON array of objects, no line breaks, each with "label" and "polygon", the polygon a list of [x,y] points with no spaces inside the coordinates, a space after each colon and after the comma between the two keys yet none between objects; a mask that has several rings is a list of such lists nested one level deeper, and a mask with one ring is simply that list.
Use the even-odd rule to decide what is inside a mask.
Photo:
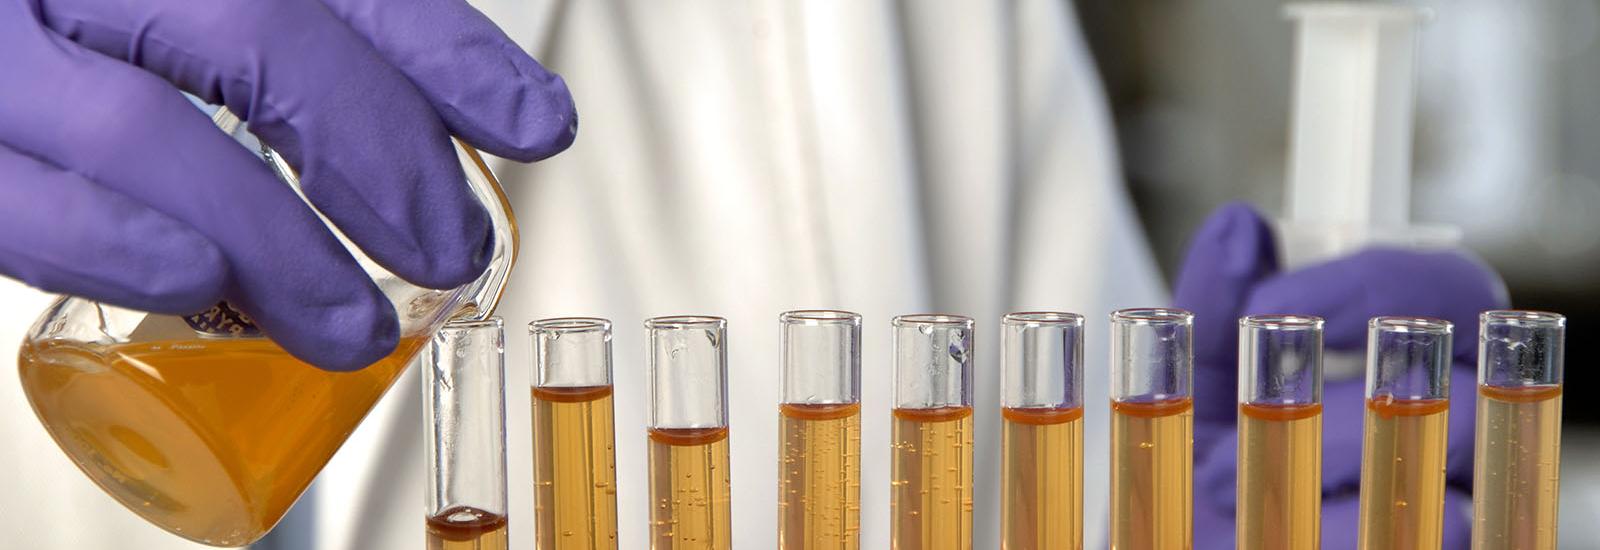
[{"label": "empty glass top of second test tube from right", "polygon": [[1374,317],[1366,333],[1366,398],[1450,398],[1453,325],[1427,317]]}]

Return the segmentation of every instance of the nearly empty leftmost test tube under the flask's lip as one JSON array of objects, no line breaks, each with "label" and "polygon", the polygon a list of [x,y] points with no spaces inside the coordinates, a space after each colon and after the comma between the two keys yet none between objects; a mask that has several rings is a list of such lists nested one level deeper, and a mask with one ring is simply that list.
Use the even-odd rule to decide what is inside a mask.
[{"label": "nearly empty leftmost test tube under the flask's lip", "polygon": [[422,352],[429,550],[506,550],[504,352],[499,318],[451,321]]}]

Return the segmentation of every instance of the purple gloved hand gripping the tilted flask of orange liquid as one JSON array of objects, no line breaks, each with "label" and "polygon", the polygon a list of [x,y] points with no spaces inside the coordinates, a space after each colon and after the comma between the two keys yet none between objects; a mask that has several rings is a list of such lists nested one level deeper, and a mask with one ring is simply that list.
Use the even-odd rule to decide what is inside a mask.
[{"label": "purple gloved hand gripping the tilted flask of orange liquid", "polygon": [[0,273],[160,313],[226,297],[330,369],[394,350],[394,307],[178,88],[248,120],[350,240],[430,288],[474,280],[491,245],[450,134],[533,161],[578,125],[562,78],[464,0],[0,0]]}]

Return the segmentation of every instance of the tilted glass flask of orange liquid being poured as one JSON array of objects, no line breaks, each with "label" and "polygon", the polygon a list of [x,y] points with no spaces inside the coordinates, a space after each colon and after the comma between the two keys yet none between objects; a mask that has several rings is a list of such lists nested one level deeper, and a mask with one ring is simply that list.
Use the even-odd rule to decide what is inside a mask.
[{"label": "tilted glass flask of orange liquid being poured", "polygon": [[[290,166],[237,117],[218,109],[213,120],[299,190]],[[392,355],[330,373],[290,357],[227,304],[168,317],[69,296],[45,310],[18,357],[34,412],[83,473],[147,521],[210,545],[254,542],[434,331],[450,318],[486,317],[499,301],[517,251],[515,219],[477,152],[459,142],[456,152],[494,222],[494,257],[477,281],[419,288],[339,237],[395,304]]]}]

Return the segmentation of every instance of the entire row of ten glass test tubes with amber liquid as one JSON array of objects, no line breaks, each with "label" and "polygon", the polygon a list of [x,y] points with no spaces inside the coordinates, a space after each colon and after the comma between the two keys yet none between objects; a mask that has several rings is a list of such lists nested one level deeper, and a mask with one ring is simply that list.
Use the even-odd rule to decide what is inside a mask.
[{"label": "entire row of ten glass test tubes with amber liquid", "polygon": [[[1112,313],[1110,545],[1194,537],[1194,317]],[[861,317],[781,320],[779,548],[858,548]],[[1238,321],[1238,548],[1318,548],[1322,333],[1301,315]],[[731,548],[726,321],[648,329],[650,547]],[[534,548],[618,548],[611,325],[534,321]],[[893,548],[971,548],[973,331],[893,320]],[[1360,547],[1442,544],[1453,326],[1368,325]],[[1472,544],[1554,548],[1565,318],[1480,318]],[[429,548],[506,548],[499,320],[453,323],[424,355]],[[1083,545],[1083,317],[1002,320],[1002,548]]]}]

